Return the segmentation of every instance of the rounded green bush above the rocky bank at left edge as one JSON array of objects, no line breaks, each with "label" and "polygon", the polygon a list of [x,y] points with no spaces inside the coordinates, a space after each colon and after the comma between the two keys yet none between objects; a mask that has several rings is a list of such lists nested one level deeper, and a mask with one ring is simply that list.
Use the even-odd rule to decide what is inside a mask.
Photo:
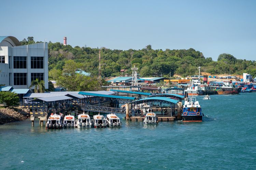
[{"label": "rounded green bush above the rocky bank at left edge", "polygon": [[11,91],[0,91],[0,103],[5,103],[7,107],[18,105],[19,96]]}]

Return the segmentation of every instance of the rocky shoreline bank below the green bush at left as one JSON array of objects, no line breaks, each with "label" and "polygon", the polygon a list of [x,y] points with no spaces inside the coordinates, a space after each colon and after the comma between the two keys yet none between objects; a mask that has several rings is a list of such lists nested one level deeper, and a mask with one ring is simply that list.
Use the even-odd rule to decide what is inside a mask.
[{"label": "rocky shoreline bank below the green bush at left", "polygon": [[0,124],[28,119],[29,110],[22,107],[0,108]]}]

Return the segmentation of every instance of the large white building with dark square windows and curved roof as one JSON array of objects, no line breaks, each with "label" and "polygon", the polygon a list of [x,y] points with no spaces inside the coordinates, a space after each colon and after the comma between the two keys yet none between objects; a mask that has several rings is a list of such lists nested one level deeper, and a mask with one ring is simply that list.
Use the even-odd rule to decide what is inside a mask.
[{"label": "large white building with dark square windows and curved roof", "polygon": [[48,89],[48,44],[22,46],[13,36],[0,36],[0,84],[29,88],[35,79]]}]

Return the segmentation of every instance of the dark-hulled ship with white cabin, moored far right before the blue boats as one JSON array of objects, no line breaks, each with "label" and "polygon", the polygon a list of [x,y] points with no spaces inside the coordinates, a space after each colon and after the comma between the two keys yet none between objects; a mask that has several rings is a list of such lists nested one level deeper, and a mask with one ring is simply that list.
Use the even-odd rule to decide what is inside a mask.
[{"label": "dark-hulled ship with white cabin, moored far right before the blue boats", "polygon": [[218,95],[234,95],[239,94],[241,87],[236,87],[232,84],[232,81],[224,82],[220,89],[217,89]]}]

